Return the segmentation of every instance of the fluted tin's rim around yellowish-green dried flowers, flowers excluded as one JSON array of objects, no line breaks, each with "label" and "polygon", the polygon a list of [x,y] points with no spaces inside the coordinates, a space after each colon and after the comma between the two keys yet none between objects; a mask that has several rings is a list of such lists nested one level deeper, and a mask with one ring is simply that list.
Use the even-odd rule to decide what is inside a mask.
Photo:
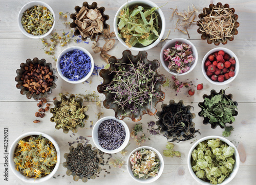
[{"label": "fluted tin's rim around yellowish-green dried flowers, flowers excluded", "polygon": [[[74,94],[71,94],[69,98],[67,98],[65,95],[62,95],[60,101],[54,100],[54,102],[53,102],[54,105],[55,105],[54,108],[57,108],[57,107],[59,106],[59,104],[62,102],[62,100],[69,101],[69,99],[70,99],[70,98],[73,98],[73,97],[75,97]],[[83,99],[82,99],[82,98],[79,98],[79,99],[76,98],[76,101],[78,101],[78,102],[80,103],[81,107],[84,107],[84,106],[82,105],[82,103],[83,103]],[[53,117],[55,116],[55,113],[53,112],[53,109],[54,109],[54,108],[51,108],[51,109],[50,109],[50,113],[53,114],[53,116],[50,118],[50,121],[51,121],[51,122],[54,122],[54,121],[53,121]],[[72,130],[73,133],[77,133],[79,127],[80,127],[80,128],[83,128],[83,127],[86,125],[86,124],[85,124],[85,123],[86,123],[86,120],[89,119],[89,116],[86,114],[86,112],[84,112],[84,115],[85,115],[86,117],[82,119],[82,125],[78,125],[78,126],[76,126],[76,127],[74,127],[74,128],[70,128],[70,129],[63,129],[63,128],[61,128],[61,129],[63,129],[63,133],[68,134],[70,130]],[[56,122],[54,122],[54,123],[56,123]],[[57,130],[59,130],[60,127],[57,127],[57,125],[58,125],[58,124],[56,123],[55,128],[56,128]]]}]

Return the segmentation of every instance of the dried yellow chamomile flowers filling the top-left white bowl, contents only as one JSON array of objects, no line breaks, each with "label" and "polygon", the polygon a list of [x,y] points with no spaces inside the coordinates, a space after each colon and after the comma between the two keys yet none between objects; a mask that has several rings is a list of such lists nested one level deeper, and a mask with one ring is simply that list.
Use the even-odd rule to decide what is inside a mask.
[{"label": "dried yellow chamomile flowers filling the top-left white bowl, contents only", "polygon": [[52,28],[54,17],[52,12],[44,6],[33,6],[22,16],[22,25],[26,32],[32,35],[43,35]]}]

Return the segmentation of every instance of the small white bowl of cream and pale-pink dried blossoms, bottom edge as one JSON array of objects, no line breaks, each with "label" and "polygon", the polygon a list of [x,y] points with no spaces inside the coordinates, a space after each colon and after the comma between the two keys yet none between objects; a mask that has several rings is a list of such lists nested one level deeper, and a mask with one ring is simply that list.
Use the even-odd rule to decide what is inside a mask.
[{"label": "small white bowl of cream and pale-pink dried blossoms, bottom edge", "polygon": [[127,159],[130,176],[140,183],[156,181],[163,173],[164,162],[161,153],[150,146],[133,150]]}]

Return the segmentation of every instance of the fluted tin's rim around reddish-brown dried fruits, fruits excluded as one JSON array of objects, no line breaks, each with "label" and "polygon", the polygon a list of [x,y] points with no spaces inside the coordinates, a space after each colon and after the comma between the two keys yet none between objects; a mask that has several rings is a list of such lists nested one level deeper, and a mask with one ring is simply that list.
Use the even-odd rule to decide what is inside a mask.
[{"label": "fluted tin's rim around reddish-brown dried fruits, fruits excluded", "polygon": [[[40,93],[40,94],[31,94],[30,91],[27,91],[25,87],[23,87],[23,81],[20,80],[20,77],[22,77],[25,69],[25,66],[29,66],[29,64],[40,64],[40,65],[44,65],[44,66],[49,66],[50,67],[50,71],[53,72],[53,81],[52,81],[52,86],[50,87],[50,91],[45,92],[45,93]],[[21,63],[20,64],[20,69],[16,70],[17,76],[15,77],[15,81],[17,82],[16,88],[20,89],[20,94],[25,94],[27,96],[28,99],[34,98],[35,100],[38,99],[44,99],[47,97],[48,94],[52,94],[52,89],[56,88],[56,84],[55,82],[58,80],[58,77],[55,76],[54,74],[56,73],[56,69],[52,68],[52,64],[51,63],[46,63],[45,59],[41,59],[38,60],[38,58],[34,58],[33,60],[31,59],[27,59],[26,60],[26,64],[25,63]]]}]

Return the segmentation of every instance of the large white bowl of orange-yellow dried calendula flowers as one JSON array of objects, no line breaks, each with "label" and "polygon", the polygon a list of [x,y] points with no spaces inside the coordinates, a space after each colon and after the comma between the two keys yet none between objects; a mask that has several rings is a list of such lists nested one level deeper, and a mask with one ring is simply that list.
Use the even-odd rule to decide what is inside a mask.
[{"label": "large white bowl of orange-yellow dried calendula flowers", "polygon": [[26,183],[44,182],[52,178],[58,170],[59,146],[45,133],[25,133],[12,143],[9,164],[14,175],[20,180]]}]

